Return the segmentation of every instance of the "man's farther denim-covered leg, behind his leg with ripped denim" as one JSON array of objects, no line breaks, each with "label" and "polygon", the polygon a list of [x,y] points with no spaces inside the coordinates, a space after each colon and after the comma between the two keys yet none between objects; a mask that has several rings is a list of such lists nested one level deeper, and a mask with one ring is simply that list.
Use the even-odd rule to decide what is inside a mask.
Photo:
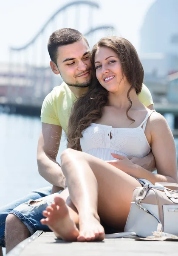
[{"label": "man's farther denim-covered leg, behind his leg with ripped denim", "polygon": [[23,204],[24,202],[27,202],[29,200],[36,200],[38,198],[42,198],[44,196],[50,195],[51,193],[51,186],[35,190],[28,195],[26,195],[23,198],[20,198],[13,203],[7,204],[3,207],[0,207],[0,256],[2,255],[1,247],[5,247],[5,239],[4,239],[4,232],[5,232],[5,222],[6,218],[9,212],[11,212],[12,209],[16,208],[20,204]]}]

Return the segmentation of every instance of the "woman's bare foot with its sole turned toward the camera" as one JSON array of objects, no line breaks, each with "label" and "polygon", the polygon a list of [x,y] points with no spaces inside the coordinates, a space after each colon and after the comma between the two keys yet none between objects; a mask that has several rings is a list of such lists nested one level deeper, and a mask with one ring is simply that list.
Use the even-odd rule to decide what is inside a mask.
[{"label": "woman's bare foot with its sole turned toward the camera", "polygon": [[76,241],[79,236],[79,230],[70,218],[68,207],[65,201],[57,195],[51,207],[46,207],[43,211],[45,219],[41,223],[47,225],[59,239],[65,241]]}]

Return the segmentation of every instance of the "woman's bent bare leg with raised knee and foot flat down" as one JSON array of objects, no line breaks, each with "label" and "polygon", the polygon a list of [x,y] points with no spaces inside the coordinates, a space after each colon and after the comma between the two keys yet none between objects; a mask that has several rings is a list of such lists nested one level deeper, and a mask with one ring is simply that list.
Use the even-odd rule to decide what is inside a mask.
[{"label": "woman's bent bare leg with raised knee and foot flat down", "polygon": [[103,160],[72,149],[61,154],[61,167],[71,201],[79,212],[78,241],[98,234],[104,238],[98,213],[108,225],[124,227],[133,189],[141,186],[138,180]]}]

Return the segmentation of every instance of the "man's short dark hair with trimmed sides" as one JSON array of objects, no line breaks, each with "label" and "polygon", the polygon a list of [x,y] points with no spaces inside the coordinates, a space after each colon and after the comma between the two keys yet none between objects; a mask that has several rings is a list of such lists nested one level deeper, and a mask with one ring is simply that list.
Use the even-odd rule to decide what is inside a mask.
[{"label": "man's short dark hair with trimmed sides", "polygon": [[57,64],[57,49],[59,46],[73,44],[82,39],[84,39],[88,44],[85,36],[76,29],[64,28],[53,32],[48,41],[48,52],[51,61],[54,61],[54,63]]}]

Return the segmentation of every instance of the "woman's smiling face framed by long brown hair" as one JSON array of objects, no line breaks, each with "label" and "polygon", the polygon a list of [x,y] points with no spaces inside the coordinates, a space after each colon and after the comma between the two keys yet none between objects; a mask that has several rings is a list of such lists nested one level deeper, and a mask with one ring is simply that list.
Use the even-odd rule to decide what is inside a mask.
[{"label": "woman's smiling face framed by long brown hair", "polygon": [[119,57],[109,47],[99,47],[95,53],[96,77],[109,92],[117,92],[123,79]]}]

